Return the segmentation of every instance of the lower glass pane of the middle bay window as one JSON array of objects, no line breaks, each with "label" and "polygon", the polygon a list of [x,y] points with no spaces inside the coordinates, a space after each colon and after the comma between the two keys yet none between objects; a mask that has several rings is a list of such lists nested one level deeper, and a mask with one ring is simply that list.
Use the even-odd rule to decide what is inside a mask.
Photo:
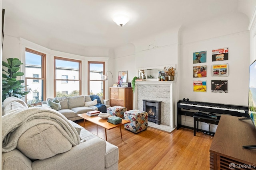
[{"label": "lower glass pane of the middle bay window", "polygon": [[62,83],[61,80],[56,81],[56,96],[79,96],[79,81],[67,81]]}]

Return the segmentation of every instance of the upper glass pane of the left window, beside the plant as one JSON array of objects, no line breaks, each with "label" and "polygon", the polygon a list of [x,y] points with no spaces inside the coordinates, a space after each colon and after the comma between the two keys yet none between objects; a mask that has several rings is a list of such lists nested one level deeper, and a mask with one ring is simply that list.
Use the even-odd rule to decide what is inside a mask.
[{"label": "upper glass pane of the left window, beside the plant", "polygon": [[26,77],[34,77],[36,74],[41,78],[42,76],[42,56],[26,51]]}]

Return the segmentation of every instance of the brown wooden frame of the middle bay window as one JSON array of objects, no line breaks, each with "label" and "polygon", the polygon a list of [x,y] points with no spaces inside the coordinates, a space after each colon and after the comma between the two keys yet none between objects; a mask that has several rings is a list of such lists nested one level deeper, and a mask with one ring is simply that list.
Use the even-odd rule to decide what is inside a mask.
[{"label": "brown wooden frame of the middle bay window", "polygon": [[[71,62],[76,62],[78,63],[78,80],[74,79],[56,79],[56,60],[62,60],[62,61],[71,61]],[[67,59],[64,57],[56,57],[54,56],[54,97],[56,97],[56,81],[79,81],[79,95],[82,95],[82,61],[81,60],[75,60],[75,59]]]}]

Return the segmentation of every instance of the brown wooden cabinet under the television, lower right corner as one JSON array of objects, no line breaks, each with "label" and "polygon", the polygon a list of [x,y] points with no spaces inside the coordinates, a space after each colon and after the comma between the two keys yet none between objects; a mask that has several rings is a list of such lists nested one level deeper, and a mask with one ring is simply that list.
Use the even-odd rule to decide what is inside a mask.
[{"label": "brown wooden cabinet under the television, lower right corner", "polygon": [[[210,147],[210,169],[230,170],[256,167],[256,149],[244,149],[244,145],[256,145],[256,129],[251,120],[238,120],[236,116],[221,115]],[[239,169],[238,168],[238,169]]]}]

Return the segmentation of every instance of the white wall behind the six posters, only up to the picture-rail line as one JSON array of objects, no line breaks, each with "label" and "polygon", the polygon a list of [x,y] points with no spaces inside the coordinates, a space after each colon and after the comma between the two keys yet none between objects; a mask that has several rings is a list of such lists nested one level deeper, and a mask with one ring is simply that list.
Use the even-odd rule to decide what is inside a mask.
[{"label": "white wall behind the six posters, only up to the picture-rail line", "polygon": [[[239,41],[237,41],[239,40]],[[212,62],[212,49],[228,47],[228,60]],[[193,52],[207,51],[206,63],[193,64]],[[179,80],[180,99],[248,105],[249,32],[182,45]],[[228,76],[212,77],[212,64],[228,64]],[[206,65],[206,78],[193,78],[193,66]],[[193,81],[206,80],[206,92],[193,92]],[[211,80],[228,80],[228,93],[211,92]]]}]

